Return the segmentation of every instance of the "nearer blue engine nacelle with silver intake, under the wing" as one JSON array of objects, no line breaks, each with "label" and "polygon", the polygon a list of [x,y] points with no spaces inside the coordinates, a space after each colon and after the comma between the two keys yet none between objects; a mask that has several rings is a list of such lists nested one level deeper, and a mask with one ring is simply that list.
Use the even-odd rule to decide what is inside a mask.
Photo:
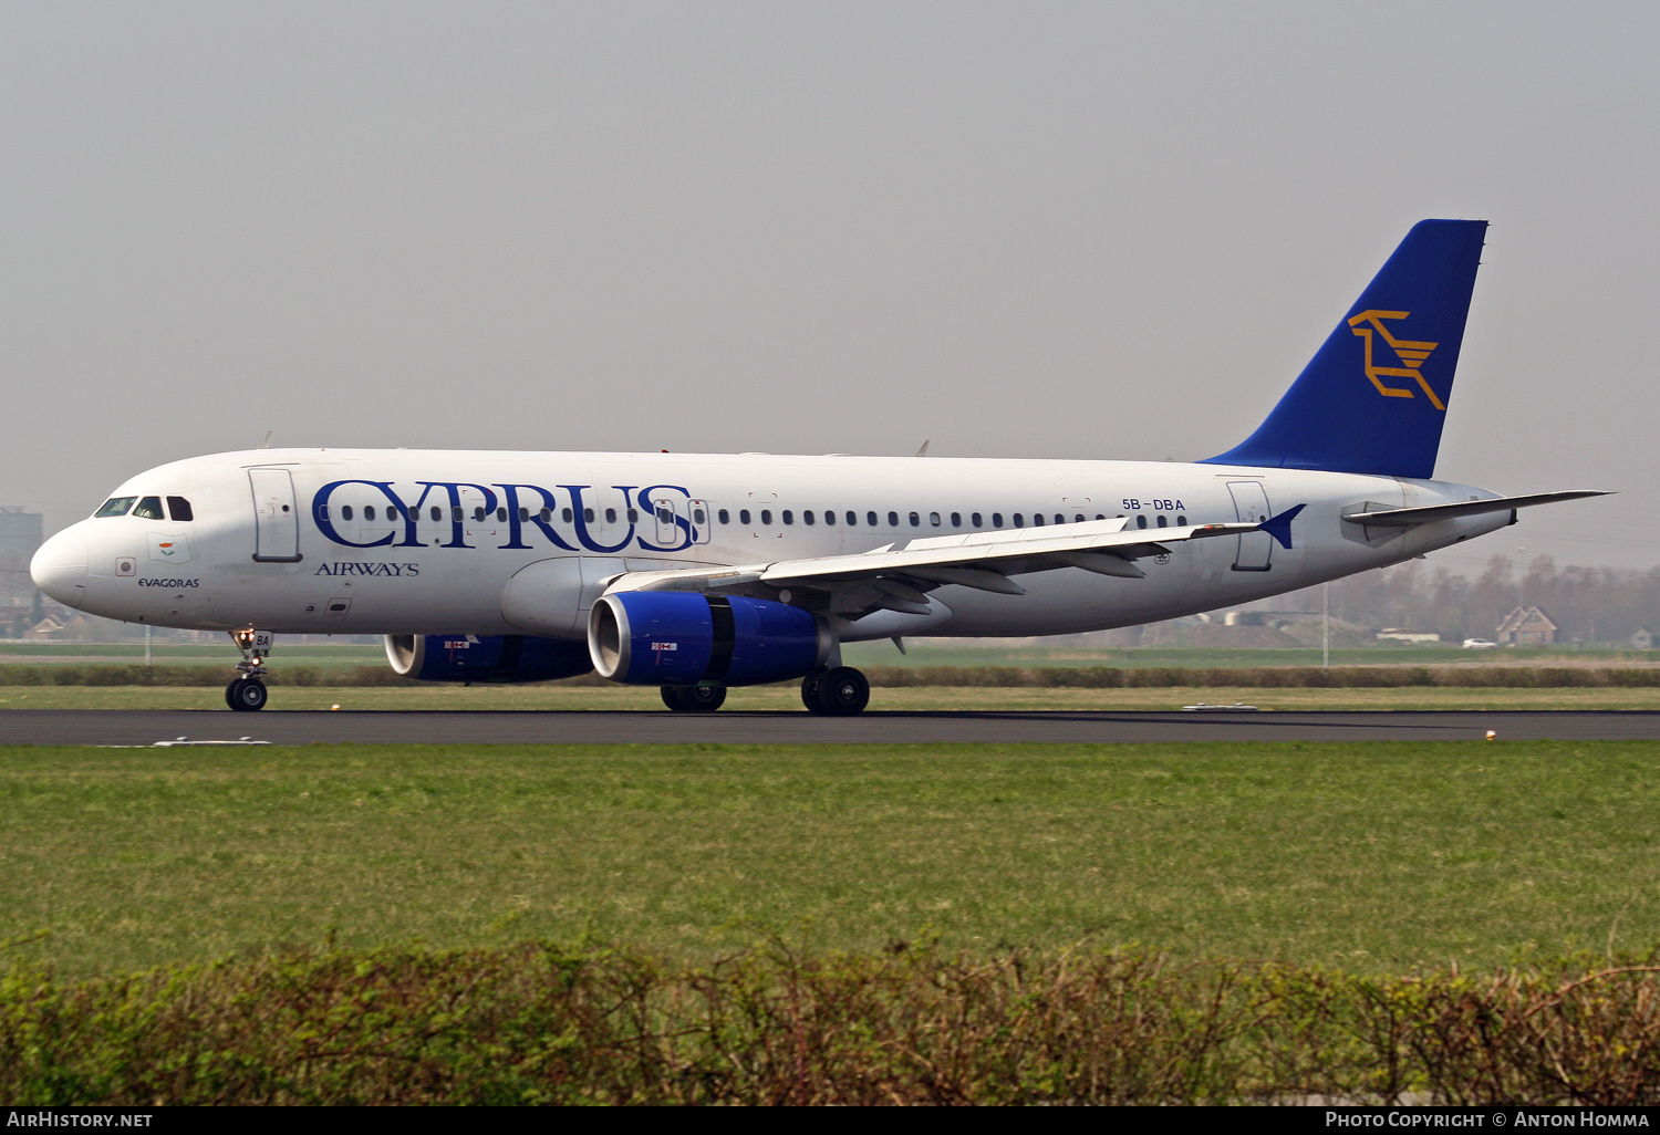
[{"label": "nearer blue engine nacelle with silver intake, under the wing", "polygon": [[692,591],[601,596],[588,616],[599,677],[642,685],[755,685],[812,674],[835,639],[784,602]]}]

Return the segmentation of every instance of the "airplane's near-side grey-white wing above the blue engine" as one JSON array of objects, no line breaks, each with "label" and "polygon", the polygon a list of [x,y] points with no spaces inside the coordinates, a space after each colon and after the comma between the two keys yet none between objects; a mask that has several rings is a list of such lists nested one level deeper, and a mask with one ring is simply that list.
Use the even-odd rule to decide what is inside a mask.
[{"label": "airplane's near-side grey-white wing above the blue engine", "polygon": [[792,587],[828,592],[828,607],[837,614],[883,607],[926,614],[930,611],[926,592],[933,587],[956,584],[1023,596],[1026,589],[1009,576],[1057,568],[1082,568],[1102,576],[1140,579],[1145,572],[1134,561],[1167,554],[1169,544],[1238,536],[1258,529],[1257,524],[1192,524],[1152,533],[1124,531],[1125,524],[1127,519],[1116,518],[931,536],[852,556],[784,559],[734,568],[632,571],[611,581],[608,591],[725,591],[770,597],[779,589]]}]

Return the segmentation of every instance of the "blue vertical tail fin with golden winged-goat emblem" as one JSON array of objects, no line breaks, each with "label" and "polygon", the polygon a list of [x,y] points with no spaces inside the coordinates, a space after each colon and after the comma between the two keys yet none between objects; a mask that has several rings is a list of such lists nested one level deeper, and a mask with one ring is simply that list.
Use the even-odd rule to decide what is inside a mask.
[{"label": "blue vertical tail fin with golden winged-goat emblem", "polygon": [[1273,413],[1202,465],[1434,476],[1486,221],[1419,221]]}]

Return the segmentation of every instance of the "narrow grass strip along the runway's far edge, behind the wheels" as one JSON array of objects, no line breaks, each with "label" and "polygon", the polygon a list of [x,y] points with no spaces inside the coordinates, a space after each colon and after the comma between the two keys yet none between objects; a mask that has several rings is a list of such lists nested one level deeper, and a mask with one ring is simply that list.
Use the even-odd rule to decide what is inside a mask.
[{"label": "narrow grass strip along the runway's far edge, behind the wheels", "polygon": [[[873,712],[898,710],[1175,710],[1197,702],[1245,702],[1263,710],[1660,710],[1660,687],[1434,687],[1250,689],[1250,687],[951,687],[872,690]],[[664,710],[656,687],[627,685],[286,685],[271,690],[266,714],[284,710]],[[222,710],[217,685],[0,685],[0,743],[13,709],[199,709]],[[800,710],[798,687],[730,690],[725,710]]]}]

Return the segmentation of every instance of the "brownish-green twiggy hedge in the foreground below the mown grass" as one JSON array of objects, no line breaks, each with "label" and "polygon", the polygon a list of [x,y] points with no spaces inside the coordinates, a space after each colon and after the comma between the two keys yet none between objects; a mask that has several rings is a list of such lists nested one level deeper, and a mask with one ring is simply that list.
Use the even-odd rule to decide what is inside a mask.
[{"label": "brownish-green twiggy hedge in the foreground below the mown grass", "polygon": [[525,944],[0,974],[0,1098],[1653,1105],[1660,966],[1355,976],[1157,954],[684,966]]}]

